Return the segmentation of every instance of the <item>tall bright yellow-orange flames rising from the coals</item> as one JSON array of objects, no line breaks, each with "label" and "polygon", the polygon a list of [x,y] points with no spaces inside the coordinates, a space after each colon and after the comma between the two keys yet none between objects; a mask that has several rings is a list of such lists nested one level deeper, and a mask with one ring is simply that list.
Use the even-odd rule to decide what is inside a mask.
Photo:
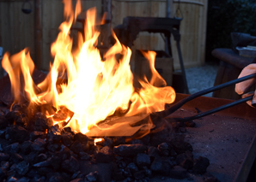
[{"label": "tall bright yellow-orange flames rising from the coals", "polygon": [[[69,114],[63,121],[68,121],[68,126],[75,131],[86,133],[118,110],[129,117],[161,111],[165,103],[174,102],[175,91],[172,87],[155,87],[159,85],[157,83],[166,84],[154,68],[155,52],[143,53],[148,57],[154,74],[151,80],[139,80],[139,91],[133,87],[131,50],[120,44],[113,32],[116,43],[102,61],[100,51],[96,48],[101,32],[96,30],[95,9],[88,10],[85,38],[78,40],[79,46],[74,51],[70,27],[80,11],[80,1],[77,1],[74,11],[71,1],[64,0],[66,21],[59,26],[58,38],[52,44],[54,62],[46,79],[39,85],[35,85],[32,79],[34,62],[27,49],[14,56],[8,53],[3,56],[2,65],[9,74],[14,103],[21,103],[22,96],[32,105],[52,104],[57,112],[65,108]],[[22,78],[25,80],[24,85],[21,85]],[[58,79],[65,81],[58,85]]]}]

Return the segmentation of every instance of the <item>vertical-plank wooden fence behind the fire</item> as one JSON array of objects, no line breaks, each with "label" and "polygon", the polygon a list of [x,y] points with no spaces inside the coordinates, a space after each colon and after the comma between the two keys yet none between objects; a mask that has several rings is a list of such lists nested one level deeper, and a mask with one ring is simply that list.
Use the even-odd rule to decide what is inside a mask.
[{"label": "vertical-plank wooden fence behind the fire", "polygon": [[[0,46],[10,54],[29,47],[36,66],[49,69],[52,61],[51,44],[57,38],[58,26],[64,21],[62,0],[28,0],[32,13],[24,14],[21,9],[25,0],[0,0]],[[96,7],[101,15],[101,0],[81,0],[82,15],[91,7]],[[171,3],[174,15],[179,0]],[[25,4],[29,8],[29,4]],[[73,3],[76,3],[73,0]],[[112,26],[122,24],[125,16],[165,17],[165,0],[112,0]],[[181,21],[181,51],[185,67],[204,63],[207,0],[180,0],[183,14]],[[175,43],[173,44],[174,68],[179,68],[179,59]],[[135,41],[132,50],[164,50],[164,41],[160,34],[142,32]],[[132,64],[132,62],[131,62]]]}]

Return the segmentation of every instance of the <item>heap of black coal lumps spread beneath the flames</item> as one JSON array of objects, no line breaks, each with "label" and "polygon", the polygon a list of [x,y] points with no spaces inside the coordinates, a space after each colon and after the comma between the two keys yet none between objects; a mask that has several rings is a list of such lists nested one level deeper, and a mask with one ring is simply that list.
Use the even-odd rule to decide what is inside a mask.
[{"label": "heap of black coal lumps spread beneath the flames", "polygon": [[[28,114],[29,113],[29,114]],[[34,114],[31,114],[34,113]],[[15,105],[0,112],[0,181],[151,181],[152,178],[218,181],[205,174],[210,161],[193,158],[184,125],[155,117],[143,138],[103,138],[94,144],[70,127],[52,126],[38,109]],[[124,128],[125,130],[125,128]]]}]

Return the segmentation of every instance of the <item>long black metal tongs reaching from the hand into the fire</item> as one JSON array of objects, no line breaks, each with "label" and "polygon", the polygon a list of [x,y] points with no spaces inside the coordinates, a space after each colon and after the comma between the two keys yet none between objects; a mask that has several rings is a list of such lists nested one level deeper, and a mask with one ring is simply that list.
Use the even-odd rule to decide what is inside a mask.
[{"label": "long black metal tongs reaching from the hand into the fire", "polygon": [[[185,103],[191,101],[192,99],[194,98],[197,98],[197,97],[200,97],[200,96],[203,96],[207,93],[210,93],[212,91],[217,91],[217,90],[220,90],[222,88],[225,88],[225,87],[228,87],[230,85],[235,85],[237,83],[240,83],[242,81],[245,81],[247,79],[253,79],[253,78],[256,78],[256,73],[252,73],[252,74],[249,74],[247,76],[244,76],[244,77],[241,77],[240,79],[234,79],[234,80],[231,80],[229,82],[226,82],[224,84],[221,84],[221,85],[216,85],[216,86],[213,86],[213,87],[210,87],[208,89],[205,89],[203,91],[198,91],[197,93],[194,93],[192,94],[191,96],[189,97],[186,97],[182,100],[180,100],[180,102],[178,103],[175,103],[173,106],[171,106],[170,108],[168,109],[165,109],[161,112],[158,112],[158,113],[155,113],[157,114],[158,116],[162,117],[162,118],[165,118],[167,117],[169,114],[172,114],[174,113],[174,111],[176,111],[177,109],[180,109],[181,106],[183,106]],[[241,98],[237,101],[234,101],[232,103],[228,103],[226,105],[222,105],[218,108],[215,108],[215,109],[210,109],[208,111],[205,111],[203,113],[199,113],[199,114],[196,114],[196,115],[193,115],[193,116],[190,116],[190,117],[184,117],[184,118],[174,118],[173,120],[171,120],[172,122],[185,122],[187,120],[195,120],[195,119],[198,119],[198,118],[201,118],[201,117],[204,117],[206,115],[209,115],[209,114],[213,114],[213,113],[216,113],[218,111],[221,111],[223,109],[228,109],[232,106],[235,106],[237,104],[240,104],[240,103],[245,103],[249,100],[252,100],[253,99],[253,92],[250,92],[250,93],[247,93],[247,94],[244,94],[245,96],[247,95],[247,97],[244,97],[244,98]]]}]

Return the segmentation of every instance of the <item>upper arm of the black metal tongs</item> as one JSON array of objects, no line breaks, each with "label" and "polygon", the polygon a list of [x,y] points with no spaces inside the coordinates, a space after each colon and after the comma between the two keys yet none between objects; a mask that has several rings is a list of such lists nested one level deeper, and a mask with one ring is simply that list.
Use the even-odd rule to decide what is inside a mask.
[{"label": "upper arm of the black metal tongs", "polygon": [[241,77],[240,79],[234,79],[234,80],[231,80],[229,82],[226,82],[224,84],[221,84],[221,85],[216,85],[216,86],[213,86],[209,89],[205,89],[204,91],[198,91],[197,93],[194,93],[192,94],[191,96],[189,97],[186,97],[182,100],[180,100],[180,102],[178,103],[175,103],[173,106],[171,106],[169,109],[165,109],[161,112],[158,112],[157,114],[161,117],[166,117],[168,116],[169,114],[172,114],[174,113],[174,111],[176,111],[177,109],[180,109],[181,106],[183,106],[185,103],[191,101],[192,99],[196,98],[196,97],[199,97],[199,96],[203,96],[207,93],[210,93],[212,91],[217,91],[217,90],[220,90],[222,88],[225,88],[227,86],[230,86],[230,85],[234,85],[234,84],[237,84],[237,83],[240,83],[242,81],[245,81],[247,79],[253,79],[253,78],[256,78],[256,73],[253,73],[253,74],[249,74],[247,76],[244,76],[244,77]]}]

